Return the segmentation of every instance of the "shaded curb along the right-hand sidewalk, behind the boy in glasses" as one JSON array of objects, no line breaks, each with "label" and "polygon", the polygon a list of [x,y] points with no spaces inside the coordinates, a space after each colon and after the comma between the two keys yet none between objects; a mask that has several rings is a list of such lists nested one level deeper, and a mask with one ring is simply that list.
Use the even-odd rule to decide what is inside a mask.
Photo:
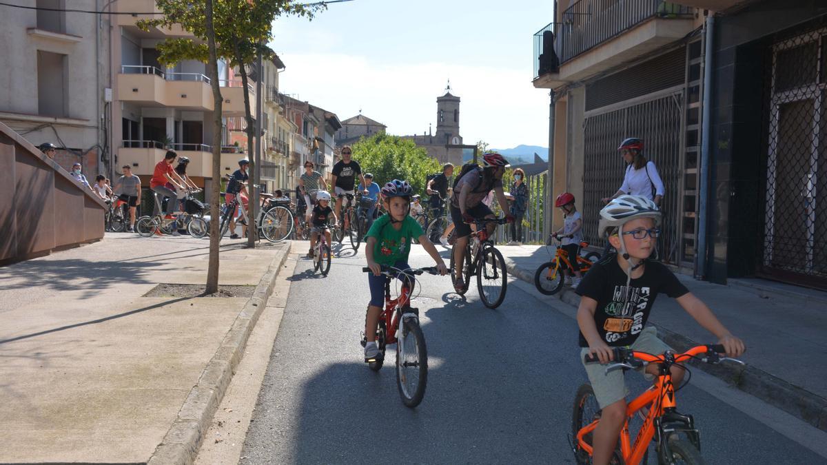
[{"label": "shaded curb along the right-hand sidewalk, behind the boy in glasses", "polygon": [[[514,262],[506,260],[505,268],[510,275],[530,285],[534,285],[533,274],[525,270],[520,270],[514,265]],[[562,290],[562,292],[555,297],[574,308],[577,308],[580,304],[580,296],[576,295],[573,290]],[[669,344],[677,351],[683,351],[687,348],[700,345],[700,343],[686,338],[681,334],[674,333],[667,328],[663,328],[657,324],[653,324],[653,326],[657,328],[657,332],[663,342]],[[710,365],[708,363],[695,361],[692,361],[691,365],[700,368],[700,370],[712,376],[717,376],[749,395],[758,397],[758,399],[767,402],[767,404],[784,410],[786,413],[815,426],[815,428],[827,431],[827,399],[820,395],[801,389],[777,376],[772,376],[750,365],[743,367],[729,364]]]}]

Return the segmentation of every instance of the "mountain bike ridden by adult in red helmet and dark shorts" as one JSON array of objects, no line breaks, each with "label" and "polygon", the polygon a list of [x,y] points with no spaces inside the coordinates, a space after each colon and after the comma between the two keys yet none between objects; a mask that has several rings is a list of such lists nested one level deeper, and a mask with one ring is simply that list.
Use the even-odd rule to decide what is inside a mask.
[{"label": "mountain bike ridden by adult in red helmet and dark shorts", "polygon": [[[485,228],[487,223],[505,224],[505,218],[475,219],[476,231],[471,232],[466,244],[465,263],[462,264],[462,275],[465,277],[465,286],[459,292],[465,295],[471,285],[471,276],[476,275],[476,288],[480,292],[480,300],[489,309],[496,309],[505,299],[505,290],[509,279],[505,271],[503,254],[494,247],[494,238],[488,236]],[[451,280],[457,284],[454,276],[454,247],[451,248]]]}]

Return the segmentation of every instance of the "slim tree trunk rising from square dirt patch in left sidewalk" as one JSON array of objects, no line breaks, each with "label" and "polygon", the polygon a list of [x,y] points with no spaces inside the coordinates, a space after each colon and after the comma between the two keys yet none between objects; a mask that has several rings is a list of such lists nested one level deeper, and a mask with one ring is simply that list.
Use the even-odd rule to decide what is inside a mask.
[{"label": "slim tree trunk rising from square dirt patch in left sidewalk", "polygon": [[207,74],[210,80],[210,87],[213,89],[213,182],[209,193],[210,222],[209,222],[209,264],[207,270],[207,294],[218,292],[218,244],[221,237],[218,236],[221,218],[218,214],[218,205],[221,203],[219,195],[221,189],[221,107],[224,99],[221,96],[221,89],[218,83],[218,57],[215,47],[215,29],[213,26],[213,0],[206,0],[207,17],[207,46],[209,48],[209,60],[207,63]]}]

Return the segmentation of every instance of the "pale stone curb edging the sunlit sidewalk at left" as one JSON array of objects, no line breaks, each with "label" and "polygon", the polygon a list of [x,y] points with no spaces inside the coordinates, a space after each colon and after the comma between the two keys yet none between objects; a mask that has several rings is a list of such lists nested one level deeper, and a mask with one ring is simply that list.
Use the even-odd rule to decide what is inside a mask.
[{"label": "pale stone curb edging the sunlit sidewalk at left", "polygon": [[253,296],[241,308],[221,346],[201,372],[198,383],[189,391],[177,418],[146,462],[148,465],[189,465],[194,462],[203,435],[213,421],[213,415],[218,410],[227,387],[230,386],[232,375],[241,362],[241,357],[244,357],[247,338],[250,337],[273,291],[275,277],[289,256],[292,242],[285,243],[287,246],[270,262],[267,271],[256,285]]}]

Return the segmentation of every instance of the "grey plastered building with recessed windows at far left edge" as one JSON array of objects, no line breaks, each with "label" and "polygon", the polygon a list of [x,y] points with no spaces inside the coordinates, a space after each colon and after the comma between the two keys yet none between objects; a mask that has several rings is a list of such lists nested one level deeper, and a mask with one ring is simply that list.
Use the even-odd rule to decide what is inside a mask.
[{"label": "grey plastered building with recessed windows at far left edge", "polygon": [[[12,4],[65,7],[62,0]],[[72,7],[94,11],[98,2]],[[66,170],[80,162],[87,175],[108,174],[112,150],[108,26],[106,15],[0,6],[0,122],[36,146],[60,147],[55,161]]]}]

